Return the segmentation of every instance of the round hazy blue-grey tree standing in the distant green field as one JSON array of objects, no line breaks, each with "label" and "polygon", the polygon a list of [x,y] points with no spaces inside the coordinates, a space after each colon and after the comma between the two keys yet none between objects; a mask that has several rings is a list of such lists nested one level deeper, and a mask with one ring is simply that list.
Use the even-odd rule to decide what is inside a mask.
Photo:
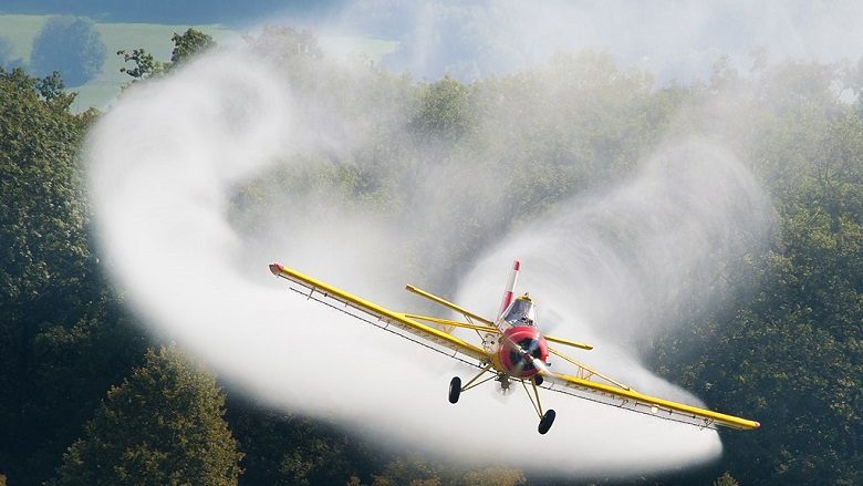
[{"label": "round hazy blue-grey tree standing in the distant green field", "polygon": [[105,63],[105,44],[86,18],[53,17],[33,40],[30,69],[40,75],[59,71],[72,86],[98,74]]}]

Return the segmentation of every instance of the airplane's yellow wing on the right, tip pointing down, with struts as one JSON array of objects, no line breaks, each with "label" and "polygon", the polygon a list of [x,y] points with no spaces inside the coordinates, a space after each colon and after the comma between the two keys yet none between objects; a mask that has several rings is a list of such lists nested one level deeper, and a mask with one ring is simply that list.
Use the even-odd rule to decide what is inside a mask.
[{"label": "airplane's yellow wing on the right, tip pointing down, with struts", "polygon": [[[727,415],[724,413],[638,393],[635,390],[613,381],[610,378],[600,374],[595,370],[591,370],[590,368],[584,366],[583,364],[578,363],[557,351],[554,351],[554,354],[573,363],[579,369],[579,374],[581,374],[581,376],[572,376],[545,371],[543,372],[543,375],[550,379],[549,381],[551,383],[548,387],[551,390],[557,389],[557,391],[562,391],[563,393],[593,400],[609,405],[614,405],[621,409],[704,427],[715,427],[716,425],[722,425],[731,428],[750,430],[761,426],[761,424],[758,422],[748,418]],[[593,381],[591,380],[593,376],[599,376],[605,380],[607,383],[599,383]],[[562,386],[566,390],[558,389],[558,386]],[[585,396],[584,393],[588,393],[589,395]]]}]

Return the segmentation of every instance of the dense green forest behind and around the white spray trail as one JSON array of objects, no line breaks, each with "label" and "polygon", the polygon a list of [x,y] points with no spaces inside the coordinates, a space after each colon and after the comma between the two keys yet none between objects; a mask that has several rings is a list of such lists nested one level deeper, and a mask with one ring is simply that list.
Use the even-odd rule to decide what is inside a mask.
[{"label": "dense green forest behind and around the white spray trail", "polygon": [[[170,61],[121,53],[129,82],[169,76],[212,49],[193,30],[173,42]],[[344,89],[350,80],[309,31],[271,27],[246,42],[306,100],[326,99],[358,121],[382,100],[405,110],[367,123],[366,149],[306,154],[320,163],[238,188],[238,226],[256,225],[256,208],[275,204],[284,187],[398,215],[410,197],[404,177],[482,153],[506,161],[500,184],[519,188],[502,192],[512,211],[493,221],[513,228],[566,197],[627,180],[669,133],[729,147],[767,193],[776,229],[763,249],[729,259],[724,277],[734,285],[715,282],[730,289],[721,302],[664,313],[680,324],[646,354],[663,378],[762,426],[721,431],[715,463],[593,483],[863,483],[861,64],[756,55],[740,72],[720,58],[709,79],[656,87],[648,71],[589,51],[470,83],[363,64],[356,91]],[[94,242],[82,147],[103,114],[72,113],[73,100],[58,75],[0,70],[0,485],[584,483],[383,449],[235,393],[181,347],[147,333]],[[464,227],[462,239],[441,242],[451,265],[490,244],[475,215],[447,216]]]}]

